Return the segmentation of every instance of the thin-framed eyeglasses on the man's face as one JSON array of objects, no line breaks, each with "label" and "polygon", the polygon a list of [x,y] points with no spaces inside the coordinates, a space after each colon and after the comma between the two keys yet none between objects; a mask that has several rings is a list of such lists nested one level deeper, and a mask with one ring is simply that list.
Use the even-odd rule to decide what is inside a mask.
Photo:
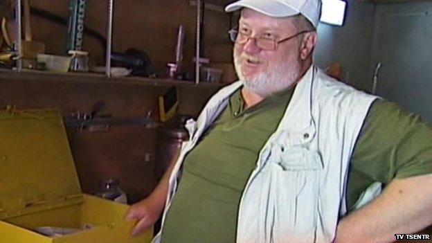
[{"label": "thin-framed eyeglasses on the man's face", "polygon": [[237,44],[246,44],[246,42],[249,41],[249,39],[255,39],[255,44],[266,51],[276,51],[276,48],[278,48],[278,44],[282,42],[287,42],[289,39],[292,39],[294,37],[297,37],[298,35],[303,35],[305,33],[308,33],[310,31],[303,30],[299,33],[296,33],[295,35],[291,35],[290,37],[287,37],[285,39],[271,39],[266,37],[251,37],[249,35],[246,35],[244,33],[240,33],[237,29],[232,29],[228,31],[228,34],[230,36],[230,39],[232,42]]}]

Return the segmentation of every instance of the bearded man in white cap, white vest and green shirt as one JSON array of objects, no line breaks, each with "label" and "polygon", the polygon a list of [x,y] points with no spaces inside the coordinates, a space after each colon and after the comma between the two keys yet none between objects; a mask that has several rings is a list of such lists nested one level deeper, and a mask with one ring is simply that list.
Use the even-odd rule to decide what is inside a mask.
[{"label": "bearded man in white cap, white vest and green shirt", "polygon": [[132,233],[162,211],[155,242],[392,242],[430,225],[432,131],[312,64],[321,1],[234,10],[240,82],[188,121],[177,161],[129,210]]}]

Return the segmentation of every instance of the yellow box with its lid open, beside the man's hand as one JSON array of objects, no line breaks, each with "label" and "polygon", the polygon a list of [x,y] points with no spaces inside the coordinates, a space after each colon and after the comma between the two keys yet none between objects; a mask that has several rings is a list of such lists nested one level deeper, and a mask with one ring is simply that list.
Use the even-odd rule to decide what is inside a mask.
[{"label": "yellow box with its lid open, beside the man's hand", "polygon": [[[82,193],[62,117],[55,110],[0,111],[0,242],[150,242],[124,220],[129,206]],[[46,236],[37,227],[82,228]]]}]

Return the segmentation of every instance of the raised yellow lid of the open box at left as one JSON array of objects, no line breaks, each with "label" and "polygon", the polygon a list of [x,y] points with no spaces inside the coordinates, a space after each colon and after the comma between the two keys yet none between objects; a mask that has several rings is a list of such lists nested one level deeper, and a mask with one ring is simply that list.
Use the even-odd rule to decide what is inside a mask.
[{"label": "raised yellow lid of the open box at left", "polygon": [[0,219],[62,206],[68,199],[76,203],[80,195],[59,112],[0,111]]}]

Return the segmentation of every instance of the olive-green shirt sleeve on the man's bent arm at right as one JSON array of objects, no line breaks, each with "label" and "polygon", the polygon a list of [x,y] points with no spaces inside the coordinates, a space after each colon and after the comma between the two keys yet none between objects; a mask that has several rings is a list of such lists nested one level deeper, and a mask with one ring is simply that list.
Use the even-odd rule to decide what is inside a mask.
[{"label": "olive-green shirt sleeve on the man's bent arm at right", "polygon": [[384,183],[432,173],[432,128],[394,102],[375,100],[363,123],[350,161],[347,205],[361,192]]}]

